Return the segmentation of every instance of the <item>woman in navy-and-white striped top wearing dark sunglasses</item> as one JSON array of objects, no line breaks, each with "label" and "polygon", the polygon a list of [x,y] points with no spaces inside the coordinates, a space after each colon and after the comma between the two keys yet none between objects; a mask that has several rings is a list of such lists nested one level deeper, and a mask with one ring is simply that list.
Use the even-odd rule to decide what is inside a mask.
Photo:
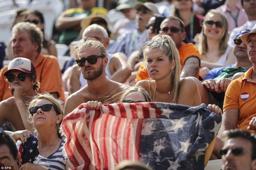
[{"label": "woman in navy-and-white striped top wearing dark sunglasses", "polygon": [[[63,119],[61,101],[56,100],[50,94],[35,96],[29,104],[28,111],[30,121],[32,119],[31,123],[34,125],[34,131],[16,131],[12,134],[12,137],[16,141],[19,140],[17,146],[21,143],[25,146],[25,142],[29,141],[31,134],[35,134],[38,142],[34,140],[33,143],[38,144],[39,155],[31,157],[31,163],[27,162],[21,165],[20,169],[66,169],[66,159],[62,154],[65,141],[62,140],[59,131]],[[23,149],[26,149],[24,146]]]}]

